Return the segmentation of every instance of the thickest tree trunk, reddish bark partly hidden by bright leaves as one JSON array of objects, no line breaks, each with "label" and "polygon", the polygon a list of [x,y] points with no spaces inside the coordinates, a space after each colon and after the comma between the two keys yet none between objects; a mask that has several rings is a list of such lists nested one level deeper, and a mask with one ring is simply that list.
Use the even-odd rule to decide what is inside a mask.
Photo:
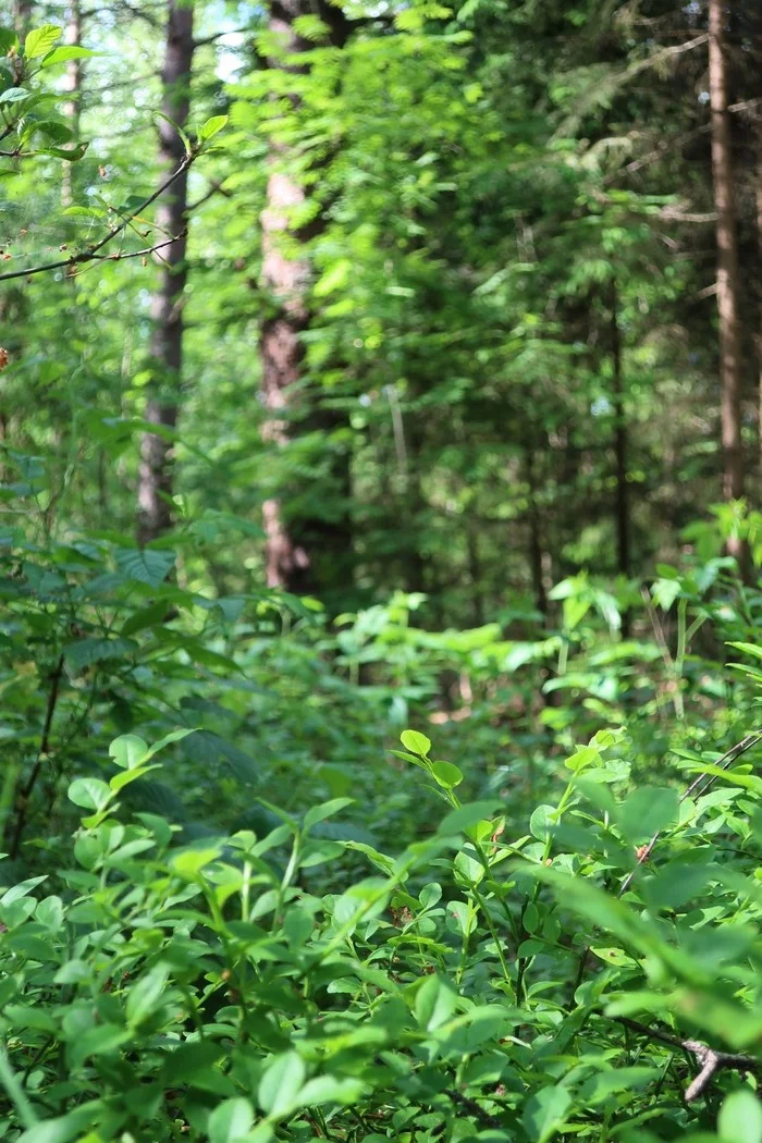
[{"label": "thickest tree trunk, reddish bark partly hidden by bright leaves", "polygon": [[[279,54],[268,58],[273,69],[298,74],[306,65],[284,57],[314,50],[314,45],[302,39],[294,23],[299,16],[316,15],[330,29],[330,42],[342,47],[348,25],[335,6],[318,0],[274,0],[271,3],[268,30],[279,43]],[[298,177],[289,170],[290,152],[287,146],[273,143],[270,153],[267,206],[262,215],[263,267],[262,286],[273,312],[264,321],[259,338],[262,358],[262,397],[268,413],[263,429],[265,441],[275,447],[288,443],[291,435],[290,416],[294,414],[294,389],[304,376],[302,334],[310,323],[308,282],[310,264],[305,243],[324,226],[318,217],[303,231],[291,229],[295,208],[304,203],[306,191]],[[286,241],[284,241],[286,240]],[[338,427],[337,415],[313,408],[304,418],[302,429],[329,435]],[[296,593],[324,594],[331,585],[337,588],[346,580],[351,563],[351,530],[348,527],[350,469],[345,454],[337,451],[331,458],[330,496],[337,505],[336,518],[302,513],[287,519],[278,497],[263,504],[266,535],[265,572],[267,586],[284,588]],[[328,491],[328,490],[327,490]],[[322,505],[321,505],[322,506]],[[339,569],[344,569],[342,576]],[[351,567],[348,576],[351,578]]]}]

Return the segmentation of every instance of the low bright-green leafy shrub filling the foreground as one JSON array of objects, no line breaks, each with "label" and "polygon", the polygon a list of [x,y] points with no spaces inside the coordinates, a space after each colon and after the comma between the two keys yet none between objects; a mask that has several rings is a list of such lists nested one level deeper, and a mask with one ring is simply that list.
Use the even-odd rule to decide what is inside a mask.
[{"label": "low bright-green leafy shrub filling the foreground", "polygon": [[[118,800],[168,742],[115,740],[75,868],[0,897],[5,1137],[759,1141],[757,741],[681,797],[601,732],[514,837],[406,732],[446,813],[386,855],[315,836],[346,799],[177,845]],[[370,876],[303,887],[347,852]]]}]

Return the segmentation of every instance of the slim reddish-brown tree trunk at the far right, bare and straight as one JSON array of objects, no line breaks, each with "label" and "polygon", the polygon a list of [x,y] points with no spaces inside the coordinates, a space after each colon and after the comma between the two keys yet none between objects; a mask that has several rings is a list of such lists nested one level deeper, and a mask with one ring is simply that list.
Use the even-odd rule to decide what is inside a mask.
[{"label": "slim reddish-brown tree trunk at the far right, bare and straight", "polygon": [[[709,102],[712,109],[712,173],[717,214],[717,311],[720,315],[720,384],[723,453],[723,496],[744,495],[740,437],[740,336],[738,323],[738,238],[733,194],[724,5],[709,0]],[[729,551],[743,557],[743,544],[733,538]]]}]

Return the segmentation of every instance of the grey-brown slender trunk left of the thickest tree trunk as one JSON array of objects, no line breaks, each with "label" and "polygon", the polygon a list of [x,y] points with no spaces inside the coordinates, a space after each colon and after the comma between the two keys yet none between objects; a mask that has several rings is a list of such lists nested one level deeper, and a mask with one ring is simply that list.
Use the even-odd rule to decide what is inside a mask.
[{"label": "grey-brown slender trunk left of the thickest tree trunk", "polygon": [[[169,0],[167,41],[162,71],[165,115],[185,127],[190,110],[191,67],[193,63],[193,7],[182,0]],[[160,181],[177,169],[185,147],[177,130],[162,119],[159,126]],[[183,367],[183,291],[187,278],[185,235],[187,209],[187,174],[177,178],[159,199],[157,232],[177,235],[161,251],[161,277],[151,302],[151,395],[145,419],[174,429]],[[171,441],[146,433],[141,441],[138,475],[138,539],[142,544],[155,539],[173,523],[173,454]]]}]

